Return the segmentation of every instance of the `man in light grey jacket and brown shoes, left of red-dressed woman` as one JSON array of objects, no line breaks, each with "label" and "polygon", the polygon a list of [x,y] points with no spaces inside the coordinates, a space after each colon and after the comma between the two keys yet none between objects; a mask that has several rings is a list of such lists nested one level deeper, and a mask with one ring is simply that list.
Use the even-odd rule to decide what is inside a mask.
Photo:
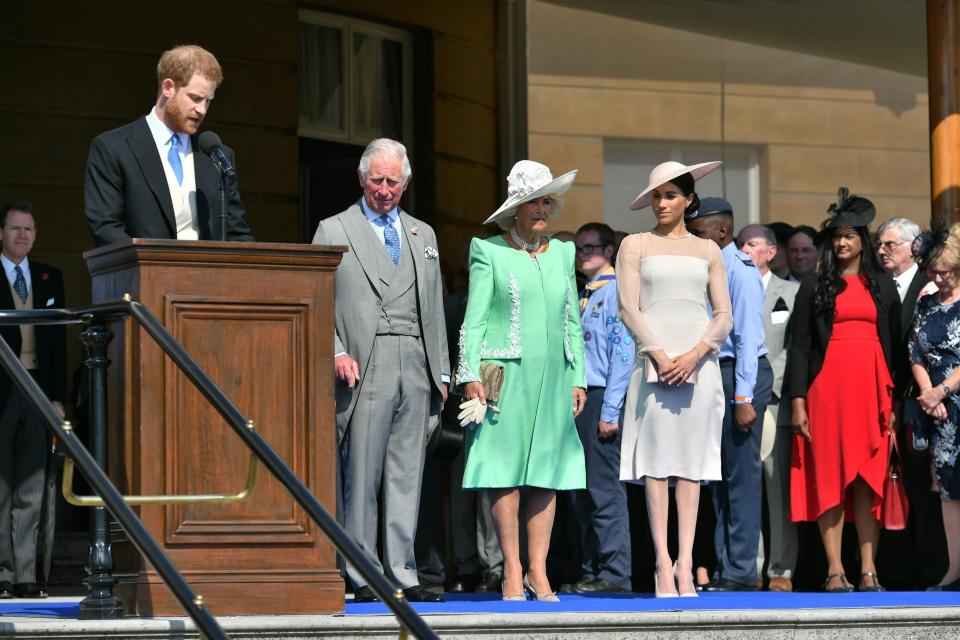
[{"label": "man in light grey jacket and brown shoes, left of red-dressed woman", "polygon": [[[773,420],[773,450],[762,461],[763,479],[767,485],[767,512],[770,519],[770,554],[767,577],[770,591],[793,591],[793,572],[797,566],[797,525],[790,521],[790,454],[793,433],[787,420],[780,424],[778,407],[787,365],[787,321],[793,312],[794,298],[800,285],[784,280],[770,269],[777,255],[777,236],[769,227],[748,224],[737,236],[740,249],[750,256],[760,271],[764,286],[763,342],[773,369],[773,393],[767,411]],[[766,425],[764,426],[766,429]]]}]

